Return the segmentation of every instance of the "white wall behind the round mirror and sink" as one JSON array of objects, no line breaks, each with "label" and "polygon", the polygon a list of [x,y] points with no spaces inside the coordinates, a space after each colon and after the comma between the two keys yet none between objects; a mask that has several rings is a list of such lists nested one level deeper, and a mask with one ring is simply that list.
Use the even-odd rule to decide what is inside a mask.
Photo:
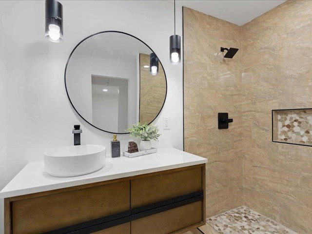
[{"label": "white wall behind the round mirror and sink", "polygon": [[[182,64],[169,64],[173,1],[59,1],[64,10],[63,43],[44,39],[43,0],[0,1],[0,188],[28,162],[43,160],[44,151],[73,144],[74,124],[83,129],[82,144],[101,144],[110,151],[112,134],[84,122],[72,109],[64,87],[69,54],[81,39],[99,31],[129,33],[155,51],[167,75],[168,94],[155,121],[162,136],[154,147],[183,148]],[[181,12],[177,1],[179,35]],[[162,130],[165,116],[171,117],[170,130]],[[118,139],[121,150],[126,150],[129,135],[118,135]]]}]

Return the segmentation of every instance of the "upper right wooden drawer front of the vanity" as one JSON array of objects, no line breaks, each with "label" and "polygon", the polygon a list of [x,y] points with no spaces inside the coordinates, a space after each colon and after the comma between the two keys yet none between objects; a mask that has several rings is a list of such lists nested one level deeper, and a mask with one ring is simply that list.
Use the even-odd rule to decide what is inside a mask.
[{"label": "upper right wooden drawer front of the vanity", "polygon": [[131,208],[201,191],[202,167],[167,171],[131,180]]}]

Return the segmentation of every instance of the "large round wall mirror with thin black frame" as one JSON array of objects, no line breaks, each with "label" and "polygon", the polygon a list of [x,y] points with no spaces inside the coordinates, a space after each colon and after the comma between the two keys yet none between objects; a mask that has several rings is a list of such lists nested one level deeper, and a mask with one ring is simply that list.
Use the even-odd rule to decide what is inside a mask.
[{"label": "large round wall mirror with thin black frame", "polygon": [[123,32],[105,31],[78,43],[65,68],[67,96],[80,117],[109,133],[150,124],[167,94],[166,74],[154,51]]}]

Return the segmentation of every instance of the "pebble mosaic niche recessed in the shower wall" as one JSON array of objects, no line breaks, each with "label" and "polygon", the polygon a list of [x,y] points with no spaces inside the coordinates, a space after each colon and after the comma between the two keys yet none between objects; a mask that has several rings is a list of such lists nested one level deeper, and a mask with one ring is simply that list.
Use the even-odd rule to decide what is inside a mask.
[{"label": "pebble mosaic niche recessed in the shower wall", "polygon": [[273,110],[274,142],[312,146],[312,109]]}]

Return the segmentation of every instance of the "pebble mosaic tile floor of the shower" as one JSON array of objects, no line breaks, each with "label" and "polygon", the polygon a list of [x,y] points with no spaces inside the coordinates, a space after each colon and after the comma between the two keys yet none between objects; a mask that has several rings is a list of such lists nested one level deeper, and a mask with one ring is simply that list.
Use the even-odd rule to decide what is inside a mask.
[{"label": "pebble mosaic tile floor of the shower", "polygon": [[245,206],[207,218],[206,221],[219,234],[297,234]]}]

